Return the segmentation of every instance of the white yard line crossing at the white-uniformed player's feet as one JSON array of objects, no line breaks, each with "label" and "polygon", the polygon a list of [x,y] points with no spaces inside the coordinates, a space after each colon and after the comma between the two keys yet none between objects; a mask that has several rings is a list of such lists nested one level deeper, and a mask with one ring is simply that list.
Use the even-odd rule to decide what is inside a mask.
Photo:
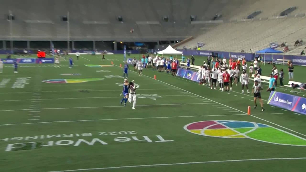
[{"label": "white yard line crossing at the white-uniformed player's feet", "polygon": [[[197,104],[214,104],[214,103],[176,103],[176,104],[148,104],[148,105],[136,105],[136,106],[168,106],[168,105],[197,105]],[[15,110],[0,110],[0,112],[7,111],[21,111],[21,110],[56,110],[56,109],[86,109],[86,108],[108,108],[108,107],[132,107],[131,106],[95,106],[95,107],[60,107],[60,108],[39,108],[37,109],[15,109]],[[35,107],[31,107],[35,108]]]}]

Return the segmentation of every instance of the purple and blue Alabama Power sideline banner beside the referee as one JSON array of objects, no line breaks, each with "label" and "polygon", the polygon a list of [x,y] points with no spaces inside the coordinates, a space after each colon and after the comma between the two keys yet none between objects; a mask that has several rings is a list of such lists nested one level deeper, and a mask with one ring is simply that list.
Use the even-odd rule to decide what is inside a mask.
[{"label": "purple and blue Alabama Power sideline banner beside the referee", "polygon": [[306,114],[306,99],[303,97],[272,91],[268,104]]}]

